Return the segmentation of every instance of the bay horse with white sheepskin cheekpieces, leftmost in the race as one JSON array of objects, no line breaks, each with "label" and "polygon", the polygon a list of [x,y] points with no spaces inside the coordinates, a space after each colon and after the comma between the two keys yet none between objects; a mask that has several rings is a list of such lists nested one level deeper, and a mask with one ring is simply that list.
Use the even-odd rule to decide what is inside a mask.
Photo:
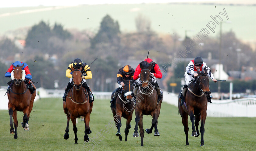
[{"label": "bay horse with white sheepskin cheekpieces, leftmost in the race", "polygon": [[[22,111],[24,113],[23,116],[23,122],[22,127],[24,127],[24,130],[29,130],[28,128],[28,120],[30,117],[30,112],[33,108],[34,99],[36,97],[36,91],[33,94],[30,94],[30,90],[28,90],[28,87],[25,80],[25,71],[22,70],[24,65],[22,66],[14,66],[13,73],[13,85],[10,85],[10,93],[7,94],[9,102],[8,102],[8,109],[9,109],[9,115],[10,115],[10,133],[14,134],[14,139],[17,139],[17,126],[18,126],[18,120],[17,120],[17,111]],[[34,84],[33,84],[34,86]],[[34,86],[36,89],[36,87]],[[13,122],[12,122],[13,118]],[[13,123],[14,123],[14,129],[13,129]]]}]

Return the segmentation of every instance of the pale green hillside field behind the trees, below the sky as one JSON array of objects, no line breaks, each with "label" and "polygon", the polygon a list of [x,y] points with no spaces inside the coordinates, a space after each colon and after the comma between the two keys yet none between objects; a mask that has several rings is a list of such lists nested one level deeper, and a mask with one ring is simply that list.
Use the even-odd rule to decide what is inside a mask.
[{"label": "pale green hillside field behind the trees, below the sky", "polygon": [[[121,32],[136,31],[135,18],[142,14],[151,21],[151,29],[157,33],[178,33],[185,36],[185,30],[189,37],[195,37],[206,24],[213,21],[210,17],[226,13],[231,24],[223,24],[223,32],[232,30],[242,40],[255,40],[256,30],[253,21],[256,14],[256,6],[253,5],[215,5],[215,4],[119,4],[119,5],[80,5],[72,7],[20,7],[0,9],[0,34],[24,27],[31,27],[41,20],[54,25],[62,24],[65,29],[76,28],[98,32],[100,22],[105,15],[110,15],[114,21],[119,22]],[[224,15],[220,15],[223,21],[227,21]],[[217,19],[220,21],[219,19]],[[215,33],[209,36],[219,36],[219,25],[216,24]],[[24,31],[20,30],[21,34]],[[26,33],[24,33],[26,34]],[[17,35],[16,35],[17,36]]]}]

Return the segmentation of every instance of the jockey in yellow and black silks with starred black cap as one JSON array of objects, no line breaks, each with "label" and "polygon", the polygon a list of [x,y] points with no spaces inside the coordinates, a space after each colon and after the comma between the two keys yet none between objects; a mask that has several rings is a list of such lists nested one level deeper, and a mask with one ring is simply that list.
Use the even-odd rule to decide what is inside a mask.
[{"label": "jockey in yellow and black silks with starred black cap", "polygon": [[67,93],[68,93],[69,89],[73,86],[73,84],[71,83],[73,80],[72,79],[72,70],[71,70],[72,66],[74,69],[79,69],[80,67],[82,67],[82,79],[84,81],[82,85],[89,93],[90,100],[94,101],[90,87],[86,83],[87,79],[92,78],[90,67],[85,62],[83,63],[83,61],[79,58],[76,58],[73,62],[71,62],[68,66],[68,69],[66,70],[66,77],[68,77],[70,79],[69,79],[68,85],[66,86],[65,93],[64,93],[64,96],[62,97],[62,100],[66,102]]}]

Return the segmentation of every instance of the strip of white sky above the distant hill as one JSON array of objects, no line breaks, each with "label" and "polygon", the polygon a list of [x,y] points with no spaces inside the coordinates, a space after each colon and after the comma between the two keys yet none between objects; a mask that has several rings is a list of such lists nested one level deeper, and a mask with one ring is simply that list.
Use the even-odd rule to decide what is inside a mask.
[{"label": "strip of white sky above the distant hill", "polygon": [[[218,1],[231,1],[231,0],[218,0]],[[213,2],[213,0],[3,0],[0,8],[6,7],[26,7],[26,6],[76,6],[82,4],[95,5],[95,4],[140,4],[140,3],[170,3],[170,2]]]}]

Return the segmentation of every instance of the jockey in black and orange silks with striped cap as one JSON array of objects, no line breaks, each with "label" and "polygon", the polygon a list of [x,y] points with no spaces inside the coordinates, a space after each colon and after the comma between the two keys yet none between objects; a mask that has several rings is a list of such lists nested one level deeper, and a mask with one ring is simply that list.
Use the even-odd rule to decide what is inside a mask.
[{"label": "jockey in black and orange silks with striped cap", "polygon": [[117,83],[119,84],[119,87],[116,88],[112,92],[113,97],[110,101],[110,103],[111,103],[110,107],[115,107],[114,102],[116,100],[116,97],[118,96],[117,94],[121,90],[121,88],[124,86],[122,78],[124,80],[133,80],[133,75],[134,75],[134,69],[130,65],[125,65],[124,67],[122,67],[118,70],[118,73],[117,73],[116,77],[117,77]]}]

